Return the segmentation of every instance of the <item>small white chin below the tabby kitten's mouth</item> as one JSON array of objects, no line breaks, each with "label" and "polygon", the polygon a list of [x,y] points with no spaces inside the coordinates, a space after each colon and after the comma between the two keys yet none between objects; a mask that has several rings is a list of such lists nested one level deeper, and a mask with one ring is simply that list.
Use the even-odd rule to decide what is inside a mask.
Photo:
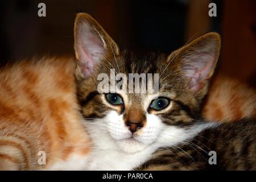
[{"label": "small white chin below the tabby kitten's mouth", "polygon": [[144,150],[146,144],[138,142],[135,139],[123,139],[117,141],[118,147],[125,153],[133,154]]}]

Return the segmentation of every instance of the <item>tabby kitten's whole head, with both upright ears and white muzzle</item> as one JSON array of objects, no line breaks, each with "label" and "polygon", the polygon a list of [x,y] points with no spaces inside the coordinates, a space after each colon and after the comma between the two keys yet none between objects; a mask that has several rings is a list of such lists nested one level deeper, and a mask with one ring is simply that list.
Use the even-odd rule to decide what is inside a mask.
[{"label": "tabby kitten's whole head, with both upright ears and white muzzle", "polygon": [[[167,56],[137,54],[119,51],[96,20],[78,14],[75,51],[78,97],[88,131],[106,147],[134,153],[152,144],[170,146],[188,134],[200,117],[200,104],[220,52],[220,36],[206,34]],[[130,73],[138,73],[139,85],[136,78],[122,77],[129,78]],[[141,73],[146,75],[144,81]],[[109,78],[105,90],[99,86],[102,74]],[[142,92],[145,82],[148,90],[148,80],[158,85],[158,93]]]}]

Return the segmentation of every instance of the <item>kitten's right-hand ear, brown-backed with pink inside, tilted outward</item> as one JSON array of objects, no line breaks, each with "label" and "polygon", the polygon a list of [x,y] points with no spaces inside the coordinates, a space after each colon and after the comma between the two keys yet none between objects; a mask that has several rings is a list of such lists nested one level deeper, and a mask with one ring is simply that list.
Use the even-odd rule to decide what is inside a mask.
[{"label": "kitten's right-hand ear, brown-backed with pink inside, tilted outward", "polygon": [[188,79],[188,89],[203,97],[208,89],[209,78],[220,53],[220,35],[210,32],[189,43],[168,57],[174,61],[181,71],[181,75]]}]

